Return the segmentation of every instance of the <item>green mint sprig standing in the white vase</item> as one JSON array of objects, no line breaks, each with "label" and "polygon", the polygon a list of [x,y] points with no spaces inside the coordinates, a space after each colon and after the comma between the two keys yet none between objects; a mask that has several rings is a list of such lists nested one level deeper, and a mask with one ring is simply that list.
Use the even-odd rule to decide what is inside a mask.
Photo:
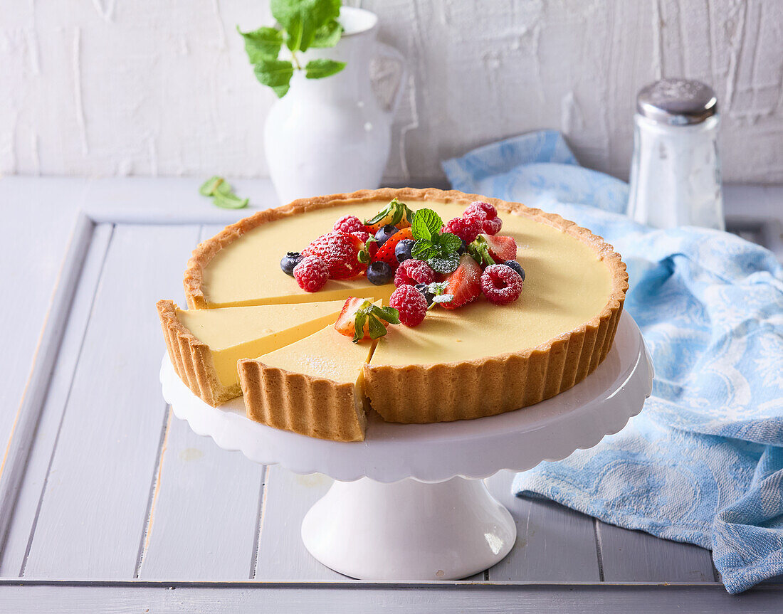
[{"label": "green mint sprig standing in the white vase", "polygon": [[[337,45],[342,35],[342,27],[337,22],[340,5],[341,0],[272,0],[270,7],[277,27],[260,27],[251,32],[237,27],[258,81],[283,98],[294,70],[305,70],[308,79],[323,79],[343,70],[345,62],[326,58],[312,59],[301,66],[297,56],[310,47]],[[288,48],[290,59],[280,59],[283,45]]]}]

